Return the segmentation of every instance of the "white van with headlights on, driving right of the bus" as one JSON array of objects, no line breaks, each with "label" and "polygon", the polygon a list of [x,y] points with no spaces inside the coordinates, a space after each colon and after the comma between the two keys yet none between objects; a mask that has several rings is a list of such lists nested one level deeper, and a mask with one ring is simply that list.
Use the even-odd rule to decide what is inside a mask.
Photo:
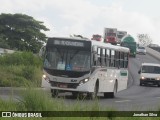
[{"label": "white van with headlights on, driving right of the bus", "polygon": [[160,64],[142,63],[138,73],[140,74],[140,86],[150,84],[160,87]]}]

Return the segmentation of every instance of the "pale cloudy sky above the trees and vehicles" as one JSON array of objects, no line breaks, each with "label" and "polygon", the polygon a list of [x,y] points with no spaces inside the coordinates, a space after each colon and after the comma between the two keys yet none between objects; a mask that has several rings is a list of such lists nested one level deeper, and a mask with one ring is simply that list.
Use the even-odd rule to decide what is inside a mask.
[{"label": "pale cloudy sky above the trees and vehicles", "polygon": [[43,21],[48,37],[103,35],[106,27],[136,38],[149,34],[160,45],[160,0],[0,0],[0,13],[22,13]]}]

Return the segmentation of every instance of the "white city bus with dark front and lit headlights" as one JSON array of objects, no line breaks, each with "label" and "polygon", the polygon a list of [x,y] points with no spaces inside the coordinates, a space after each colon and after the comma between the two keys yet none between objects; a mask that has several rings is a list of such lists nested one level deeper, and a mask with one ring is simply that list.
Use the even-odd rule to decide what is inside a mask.
[{"label": "white city bus with dark front and lit headlights", "polygon": [[72,92],[113,98],[127,88],[129,49],[80,38],[49,38],[45,48],[42,86],[52,96]]}]

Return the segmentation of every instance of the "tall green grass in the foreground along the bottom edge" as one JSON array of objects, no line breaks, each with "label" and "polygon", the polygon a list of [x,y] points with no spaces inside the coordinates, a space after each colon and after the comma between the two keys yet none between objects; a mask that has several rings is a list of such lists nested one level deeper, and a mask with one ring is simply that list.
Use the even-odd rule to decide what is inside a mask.
[{"label": "tall green grass in the foreground along the bottom edge", "polygon": [[[83,100],[82,100],[83,101]],[[8,101],[0,99],[0,111],[116,111],[111,107],[102,108],[98,99],[91,104],[84,105],[84,101],[77,100],[76,103],[66,104],[64,98],[51,98],[50,93],[33,89],[25,89],[21,93],[21,99],[15,101],[12,96]],[[60,112],[59,112],[60,113]],[[83,116],[83,115],[82,115]],[[153,117],[45,117],[45,118],[12,118],[12,120],[159,120]],[[9,118],[0,118],[9,120]]]}]

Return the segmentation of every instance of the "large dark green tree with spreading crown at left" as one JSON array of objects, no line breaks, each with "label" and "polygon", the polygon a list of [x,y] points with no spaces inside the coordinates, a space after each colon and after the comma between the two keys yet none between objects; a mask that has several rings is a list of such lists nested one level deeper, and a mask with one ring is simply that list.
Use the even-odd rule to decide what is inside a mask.
[{"label": "large dark green tree with spreading crown at left", "polygon": [[43,22],[25,14],[0,15],[0,46],[37,53],[46,42]]}]

